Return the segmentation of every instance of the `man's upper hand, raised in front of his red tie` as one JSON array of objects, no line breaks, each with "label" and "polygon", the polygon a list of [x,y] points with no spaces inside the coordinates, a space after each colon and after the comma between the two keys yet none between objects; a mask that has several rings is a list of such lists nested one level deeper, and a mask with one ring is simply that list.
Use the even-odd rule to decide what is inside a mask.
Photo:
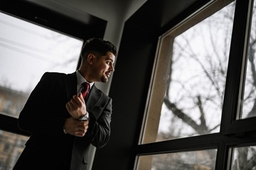
[{"label": "man's upper hand, raised in front of his red tie", "polygon": [[73,98],[66,103],[65,107],[68,113],[75,119],[79,119],[82,115],[86,114],[85,100],[82,98],[81,93],[78,94],[78,96],[74,95]]}]

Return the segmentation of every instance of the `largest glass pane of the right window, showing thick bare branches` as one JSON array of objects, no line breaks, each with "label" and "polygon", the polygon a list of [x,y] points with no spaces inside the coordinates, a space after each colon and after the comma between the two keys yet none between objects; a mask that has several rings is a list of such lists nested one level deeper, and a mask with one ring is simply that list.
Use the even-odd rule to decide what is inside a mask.
[{"label": "largest glass pane of the right window, showing thick bare branches", "polygon": [[219,132],[235,3],[174,39],[157,141]]}]

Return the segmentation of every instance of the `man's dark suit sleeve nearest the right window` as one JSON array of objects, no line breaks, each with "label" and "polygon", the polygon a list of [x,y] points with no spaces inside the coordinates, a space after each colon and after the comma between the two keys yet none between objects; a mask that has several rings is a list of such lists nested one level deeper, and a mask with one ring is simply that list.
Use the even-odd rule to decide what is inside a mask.
[{"label": "man's dark suit sleeve nearest the right window", "polygon": [[108,98],[105,108],[95,107],[93,111],[102,111],[99,118],[90,114],[89,135],[92,137],[92,145],[97,148],[104,147],[110,140],[110,122],[112,115],[112,98]]}]

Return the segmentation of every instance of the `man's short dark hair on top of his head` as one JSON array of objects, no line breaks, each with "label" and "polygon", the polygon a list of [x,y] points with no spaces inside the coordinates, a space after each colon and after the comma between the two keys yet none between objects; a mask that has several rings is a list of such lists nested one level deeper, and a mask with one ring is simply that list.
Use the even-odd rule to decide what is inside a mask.
[{"label": "man's short dark hair on top of his head", "polygon": [[114,56],[117,56],[117,47],[110,41],[90,38],[85,41],[85,45],[82,47],[81,57],[87,56],[90,52],[100,55],[107,55],[107,52],[112,52]]}]

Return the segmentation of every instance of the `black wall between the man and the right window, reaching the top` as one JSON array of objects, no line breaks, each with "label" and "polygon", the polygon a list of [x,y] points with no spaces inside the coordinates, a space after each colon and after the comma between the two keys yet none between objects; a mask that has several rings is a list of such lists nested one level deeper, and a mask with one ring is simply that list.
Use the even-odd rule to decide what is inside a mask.
[{"label": "black wall between the man and the right window, reaching the top", "polygon": [[93,170],[133,169],[159,35],[206,2],[149,0],[125,23],[110,88],[112,134]]}]

